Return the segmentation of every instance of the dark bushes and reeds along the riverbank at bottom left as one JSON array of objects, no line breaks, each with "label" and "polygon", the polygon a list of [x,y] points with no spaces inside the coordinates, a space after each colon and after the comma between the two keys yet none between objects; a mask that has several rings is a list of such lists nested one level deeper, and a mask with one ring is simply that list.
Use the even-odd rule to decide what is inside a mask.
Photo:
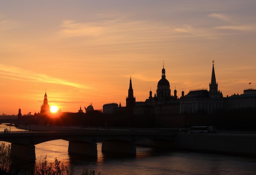
[{"label": "dark bushes and reeds along the riverbank at bottom left", "polygon": [[[64,166],[57,158],[54,162],[48,162],[47,157],[36,163],[27,162],[27,166],[13,166],[10,144],[0,144],[0,175],[95,175],[95,171],[83,169],[82,173],[76,173],[72,168]],[[101,175],[101,173],[97,173]]]}]

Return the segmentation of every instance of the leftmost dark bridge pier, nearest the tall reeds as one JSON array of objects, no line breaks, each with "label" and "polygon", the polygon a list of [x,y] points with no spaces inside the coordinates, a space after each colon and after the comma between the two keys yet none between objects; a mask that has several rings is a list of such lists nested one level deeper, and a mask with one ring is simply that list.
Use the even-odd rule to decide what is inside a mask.
[{"label": "leftmost dark bridge pier, nearest the tall reeds", "polygon": [[36,160],[35,146],[11,143],[11,156],[28,161]]}]

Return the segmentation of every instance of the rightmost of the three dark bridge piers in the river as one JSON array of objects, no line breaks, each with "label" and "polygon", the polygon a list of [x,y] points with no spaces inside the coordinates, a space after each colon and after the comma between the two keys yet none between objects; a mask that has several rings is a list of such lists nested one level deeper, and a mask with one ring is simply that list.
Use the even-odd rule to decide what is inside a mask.
[{"label": "rightmost of the three dark bridge piers in the river", "polygon": [[134,142],[107,140],[102,141],[101,151],[108,153],[136,155],[136,145]]}]

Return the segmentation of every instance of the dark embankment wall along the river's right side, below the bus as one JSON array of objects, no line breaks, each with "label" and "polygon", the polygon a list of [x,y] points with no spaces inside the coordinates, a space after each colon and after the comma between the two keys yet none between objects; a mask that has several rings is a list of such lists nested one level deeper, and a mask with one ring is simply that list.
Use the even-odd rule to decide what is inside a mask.
[{"label": "dark embankment wall along the river's right side, below the bus", "polygon": [[183,150],[256,156],[256,135],[177,133],[172,147]]}]

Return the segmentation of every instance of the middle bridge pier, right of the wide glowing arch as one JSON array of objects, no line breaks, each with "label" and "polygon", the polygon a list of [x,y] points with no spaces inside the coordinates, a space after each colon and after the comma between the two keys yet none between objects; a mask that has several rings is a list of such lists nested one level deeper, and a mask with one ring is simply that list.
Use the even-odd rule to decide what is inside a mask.
[{"label": "middle bridge pier, right of the wide glowing arch", "polygon": [[68,153],[97,157],[97,143],[73,142],[68,144]]}]

